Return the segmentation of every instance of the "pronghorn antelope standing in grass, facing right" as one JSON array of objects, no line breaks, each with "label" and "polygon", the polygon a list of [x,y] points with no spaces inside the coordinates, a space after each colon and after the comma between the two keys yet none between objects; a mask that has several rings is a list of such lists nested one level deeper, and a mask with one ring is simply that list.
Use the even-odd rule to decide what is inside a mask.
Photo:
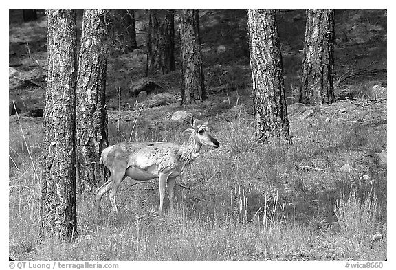
[{"label": "pronghorn antelope standing in grass, facing right", "polygon": [[197,125],[192,117],[192,133],[188,144],[179,146],[170,142],[121,142],[109,146],[102,151],[100,164],[104,164],[111,176],[106,183],[96,190],[96,205],[100,212],[102,196],[109,192],[111,206],[118,212],[115,205],[115,193],[125,177],[137,181],[159,179],[159,217],[168,188],[169,210],[173,212],[173,188],[176,177],[183,174],[186,166],[198,156],[201,146],[219,147],[219,142],[210,135],[208,121]]}]

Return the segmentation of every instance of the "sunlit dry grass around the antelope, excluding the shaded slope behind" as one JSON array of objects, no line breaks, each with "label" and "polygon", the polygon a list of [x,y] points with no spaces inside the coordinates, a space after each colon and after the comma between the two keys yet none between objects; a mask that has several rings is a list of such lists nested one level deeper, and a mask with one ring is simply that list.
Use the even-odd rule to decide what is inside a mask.
[{"label": "sunlit dry grass around the antelope, excluding the shaded slope behind", "polygon": [[[132,187],[134,181],[126,179],[117,197],[118,216],[104,199],[97,223],[93,196],[78,199],[80,237],[62,245],[52,240],[36,243],[40,191],[25,144],[34,144],[32,138],[40,135],[12,139],[10,256],[19,260],[384,260],[386,173],[362,158],[366,149],[377,147],[374,141],[386,144],[386,130],[348,135],[351,127],[336,121],[325,124],[320,115],[304,124],[292,118],[293,133],[300,138],[293,146],[260,145],[252,139],[250,121],[241,110],[212,120],[221,147],[203,150],[178,180],[176,216],[155,217],[156,181]],[[129,125],[122,126],[126,137],[133,121]],[[159,133],[144,137],[144,125],[137,121],[137,135],[157,139]],[[186,123],[164,121],[162,128],[167,129],[161,134],[179,142],[181,133],[173,132],[179,125],[181,130],[188,128]],[[22,129],[28,128],[22,124]],[[30,153],[39,155],[34,148]],[[355,174],[338,171],[347,161],[344,158],[355,161]],[[326,172],[300,169],[298,164]],[[40,171],[39,162],[35,165]],[[368,171],[371,179],[357,180]],[[361,232],[359,237],[356,231]]]}]

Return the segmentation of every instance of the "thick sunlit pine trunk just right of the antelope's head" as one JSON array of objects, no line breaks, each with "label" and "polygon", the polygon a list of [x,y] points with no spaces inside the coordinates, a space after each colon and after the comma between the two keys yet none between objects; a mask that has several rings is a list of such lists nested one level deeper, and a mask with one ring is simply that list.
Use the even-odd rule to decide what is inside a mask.
[{"label": "thick sunlit pine trunk just right of the antelope's head", "polygon": [[256,138],[289,139],[285,82],[274,10],[248,10],[250,67],[254,91]]}]

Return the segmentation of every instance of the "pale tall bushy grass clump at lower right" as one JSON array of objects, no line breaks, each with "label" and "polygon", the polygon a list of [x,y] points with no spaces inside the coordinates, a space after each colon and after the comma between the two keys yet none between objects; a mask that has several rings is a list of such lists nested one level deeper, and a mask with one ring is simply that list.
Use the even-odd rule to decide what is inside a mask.
[{"label": "pale tall bushy grass clump at lower right", "polygon": [[351,188],[348,196],[343,192],[340,200],[336,201],[334,212],[341,232],[358,240],[375,234],[380,224],[381,207],[372,190],[360,195],[357,189]]}]

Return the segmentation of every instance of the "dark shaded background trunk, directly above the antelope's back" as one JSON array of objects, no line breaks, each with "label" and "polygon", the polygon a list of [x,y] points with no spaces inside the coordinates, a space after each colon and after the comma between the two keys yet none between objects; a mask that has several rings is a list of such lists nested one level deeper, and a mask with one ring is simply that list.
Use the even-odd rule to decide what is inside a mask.
[{"label": "dark shaded background trunk, directly above the antelope's back", "polygon": [[146,76],[175,70],[174,16],[167,10],[149,10]]}]

